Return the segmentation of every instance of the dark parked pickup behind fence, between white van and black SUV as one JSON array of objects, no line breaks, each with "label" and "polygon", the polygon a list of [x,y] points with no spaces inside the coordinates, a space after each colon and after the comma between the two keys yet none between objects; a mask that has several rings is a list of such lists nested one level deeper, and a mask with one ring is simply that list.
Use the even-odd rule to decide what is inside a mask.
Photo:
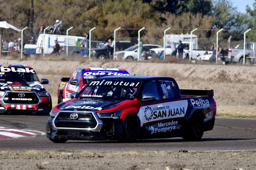
[{"label": "dark parked pickup behind fence, between white van and black SUV", "polygon": [[[91,41],[91,48],[100,48],[102,47],[106,42],[104,41]],[[60,54],[66,55],[66,46],[60,46],[61,52]],[[70,56],[75,56],[80,53],[80,50],[83,49],[84,52],[89,49],[89,41],[84,41],[82,47],[77,46],[69,46],[68,47],[68,54]]]}]

